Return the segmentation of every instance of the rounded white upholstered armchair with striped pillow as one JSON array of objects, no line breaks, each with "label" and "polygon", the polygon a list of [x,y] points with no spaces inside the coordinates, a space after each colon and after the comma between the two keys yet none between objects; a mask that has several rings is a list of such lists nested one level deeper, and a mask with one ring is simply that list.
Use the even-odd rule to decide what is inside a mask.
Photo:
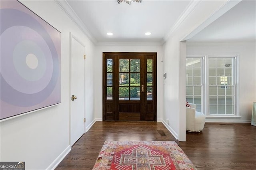
[{"label": "rounded white upholstered armchair with striped pillow", "polygon": [[189,103],[186,107],[186,130],[189,132],[200,132],[204,128],[205,115],[196,111],[196,105]]}]

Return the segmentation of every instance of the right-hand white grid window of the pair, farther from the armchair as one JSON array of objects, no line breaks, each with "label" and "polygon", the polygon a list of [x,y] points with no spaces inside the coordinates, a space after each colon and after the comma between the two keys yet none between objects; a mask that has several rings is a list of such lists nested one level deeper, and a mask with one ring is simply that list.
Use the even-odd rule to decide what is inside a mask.
[{"label": "right-hand white grid window of the pair, farther from the armchair", "polygon": [[209,115],[235,115],[236,57],[208,57]]}]

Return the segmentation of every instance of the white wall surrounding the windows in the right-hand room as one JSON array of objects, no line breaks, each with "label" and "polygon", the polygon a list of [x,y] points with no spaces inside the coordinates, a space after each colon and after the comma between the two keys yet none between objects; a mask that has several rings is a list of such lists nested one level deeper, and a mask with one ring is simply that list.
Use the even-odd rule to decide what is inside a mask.
[{"label": "white wall surrounding the windows in the right-hand room", "polygon": [[[256,43],[187,43],[187,55],[238,55],[238,118],[207,121],[250,122],[256,101]],[[206,67],[207,68],[207,67]]]}]

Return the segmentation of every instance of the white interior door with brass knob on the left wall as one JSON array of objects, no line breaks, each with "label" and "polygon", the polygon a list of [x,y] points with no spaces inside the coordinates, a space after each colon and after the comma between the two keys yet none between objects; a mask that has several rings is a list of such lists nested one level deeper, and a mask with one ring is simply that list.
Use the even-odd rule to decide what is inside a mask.
[{"label": "white interior door with brass knob on the left wall", "polygon": [[[84,134],[84,45],[71,35],[70,146]],[[74,95],[74,96],[73,96]],[[73,97],[72,97],[73,96]]]}]

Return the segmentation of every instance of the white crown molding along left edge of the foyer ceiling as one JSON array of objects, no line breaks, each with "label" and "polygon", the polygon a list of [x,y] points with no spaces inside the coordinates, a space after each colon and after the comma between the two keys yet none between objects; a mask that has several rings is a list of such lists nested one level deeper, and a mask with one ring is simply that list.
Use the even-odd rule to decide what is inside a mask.
[{"label": "white crown molding along left edge of the foyer ceiling", "polygon": [[66,2],[66,0],[54,0],[60,8],[69,16],[69,18],[84,32],[84,34],[96,44],[97,40],[92,36],[88,28],[84,25],[82,20],[77,16],[76,12],[71,8],[71,6]]}]

